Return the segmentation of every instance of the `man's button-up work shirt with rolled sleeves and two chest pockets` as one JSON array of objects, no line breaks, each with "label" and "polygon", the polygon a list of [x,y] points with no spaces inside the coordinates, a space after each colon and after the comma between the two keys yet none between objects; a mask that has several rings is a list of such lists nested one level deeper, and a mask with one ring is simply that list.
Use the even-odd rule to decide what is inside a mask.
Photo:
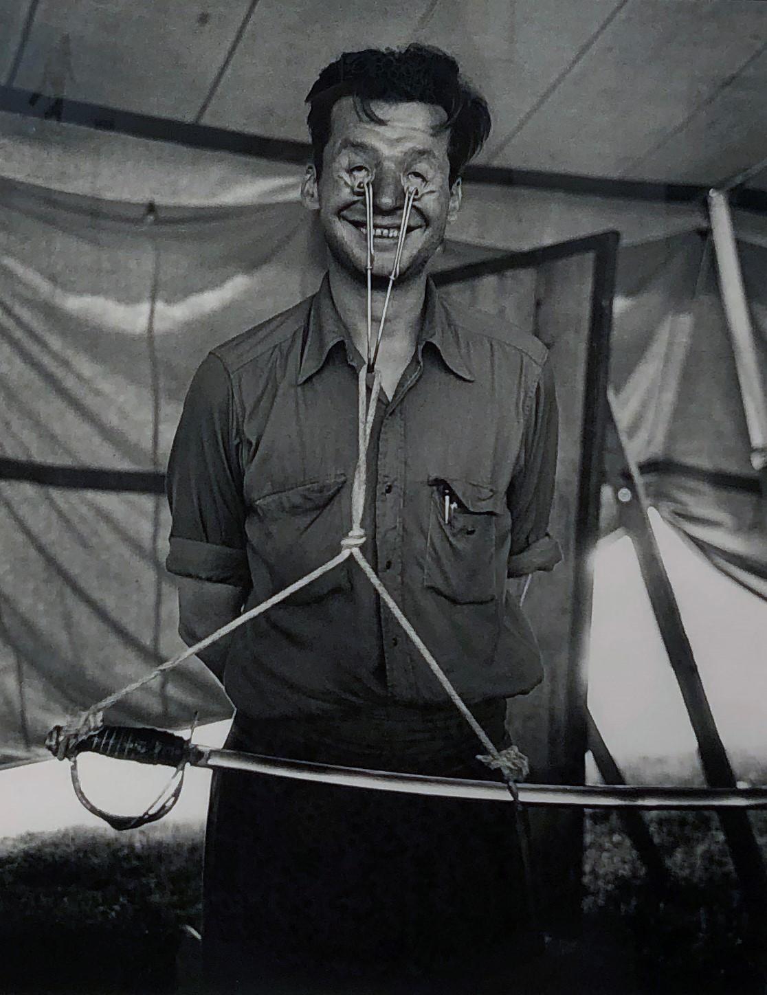
[{"label": "man's button-up work shirt with rolled sleeves and two chest pockets", "polygon": [[[339,551],[362,362],[327,278],[209,353],[168,466],[168,570],[242,588],[248,610]],[[363,552],[467,702],[542,677],[505,579],[559,559],[547,533],[556,445],[545,347],[448,306],[430,281],[416,351],[377,404]],[[447,703],[351,560],[238,629],[224,684],[257,717]]]}]

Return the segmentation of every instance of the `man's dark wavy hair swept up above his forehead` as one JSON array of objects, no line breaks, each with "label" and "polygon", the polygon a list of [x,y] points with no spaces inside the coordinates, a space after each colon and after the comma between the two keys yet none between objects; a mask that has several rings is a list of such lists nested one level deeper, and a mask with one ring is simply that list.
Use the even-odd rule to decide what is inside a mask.
[{"label": "man's dark wavy hair swept up above his forehead", "polygon": [[371,109],[372,100],[416,101],[443,107],[448,119],[440,130],[450,129],[451,185],[477,155],[490,131],[486,101],[462,78],[456,60],[441,49],[413,43],[405,49],[344,52],[325,66],[306,95],[306,123],[317,175],[330,137],[330,113],[335,101],[343,97],[352,97],[358,111],[377,124],[385,121]]}]

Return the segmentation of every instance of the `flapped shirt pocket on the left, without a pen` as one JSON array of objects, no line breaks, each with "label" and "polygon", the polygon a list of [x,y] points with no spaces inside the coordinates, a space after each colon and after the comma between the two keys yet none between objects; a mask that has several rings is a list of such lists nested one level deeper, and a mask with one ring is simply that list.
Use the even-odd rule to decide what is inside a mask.
[{"label": "flapped shirt pocket on the left, without a pen", "polygon": [[[270,576],[272,593],[281,591],[332,559],[348,531],[341,491],[345,474],[306,481],[285,491],[257,497],[254,547]],[[350,512],[349,512],[350,513]],[[305,605],[334,590],[350,588],[346,564],[333,567],[285,599],[285,605]]]}]

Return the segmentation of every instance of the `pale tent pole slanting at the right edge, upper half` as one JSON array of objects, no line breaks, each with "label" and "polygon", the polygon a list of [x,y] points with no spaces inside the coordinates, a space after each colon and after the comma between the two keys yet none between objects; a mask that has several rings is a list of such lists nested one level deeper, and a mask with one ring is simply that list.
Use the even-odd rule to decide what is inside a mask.
[{"label": "pale tent pole slanting at the right edge, upper half", "polygon": [[708,213],[711,219],[724,314],[735,356],[740,396],[751,444],[751,465],[759,477],[762,495],[767,499],[767,389],[761,373],[729,201],[725,193],[719,190],[709,192]]}]

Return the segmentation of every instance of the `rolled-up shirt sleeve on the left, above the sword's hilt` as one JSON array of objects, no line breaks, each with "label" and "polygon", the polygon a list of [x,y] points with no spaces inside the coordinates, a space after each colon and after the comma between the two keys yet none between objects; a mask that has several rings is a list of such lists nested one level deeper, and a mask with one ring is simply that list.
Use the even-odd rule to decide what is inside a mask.
[{"label": "rolled-up shirt sleeve on the left, above the sword's hilt", "polygon": [[168,461],[165,565],[181,577],[250,587],[237,425],[231,377],[211,353],[189,387]]}]

